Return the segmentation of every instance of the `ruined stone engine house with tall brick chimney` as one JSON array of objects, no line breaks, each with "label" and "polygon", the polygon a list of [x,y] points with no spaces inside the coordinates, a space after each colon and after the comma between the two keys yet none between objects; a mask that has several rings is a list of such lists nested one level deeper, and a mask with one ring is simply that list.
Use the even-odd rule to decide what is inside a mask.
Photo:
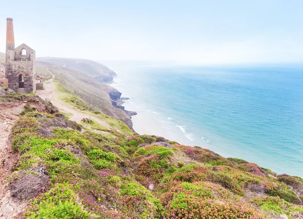
[{"label": "ruined stone engine house with tall brick chimney", "polygon": [[15,92],[33,93],[36,90],[35,50],[24,43],[15,48],[12,18],[7,18],[5,77],[8,88]]}]

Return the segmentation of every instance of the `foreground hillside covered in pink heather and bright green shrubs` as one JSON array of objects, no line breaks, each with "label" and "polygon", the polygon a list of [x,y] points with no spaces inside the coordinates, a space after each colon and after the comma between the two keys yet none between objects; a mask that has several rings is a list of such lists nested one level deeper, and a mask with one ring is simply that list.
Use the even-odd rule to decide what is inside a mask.
[{"label": "foreground hillside covered in pink heather and bright green shrubs", "polygon": [[303,217],[299,177],[125,126],[83,127],[27,105],[22,114],[9,178],[13,195],[29,199],[21,218]]}]

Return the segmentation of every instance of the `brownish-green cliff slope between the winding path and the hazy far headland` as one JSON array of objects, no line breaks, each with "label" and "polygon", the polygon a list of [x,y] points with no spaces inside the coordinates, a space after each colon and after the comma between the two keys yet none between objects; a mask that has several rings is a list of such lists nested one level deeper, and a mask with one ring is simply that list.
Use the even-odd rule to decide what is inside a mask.
[{"label": "brownish-green cliff slope between the winding path and the hazy far headland", "polygon": [[[93,63],[89,60],[87,62]],[[119,106],[121,93],[116,88],[92,77],[87,77],[84,73],[70,69],[68,66],[63,67],[37,61],[36,70],[37,77],[49,77],[48,70],[56,76],[55,81],[58,88],[68,94],[62,97],[64,101],[73,105],[81,105],[80,109],[102,112],[120,119],[132,127],[130,116],[127,115],[129,112],[123,111],[123,107]]]}]

